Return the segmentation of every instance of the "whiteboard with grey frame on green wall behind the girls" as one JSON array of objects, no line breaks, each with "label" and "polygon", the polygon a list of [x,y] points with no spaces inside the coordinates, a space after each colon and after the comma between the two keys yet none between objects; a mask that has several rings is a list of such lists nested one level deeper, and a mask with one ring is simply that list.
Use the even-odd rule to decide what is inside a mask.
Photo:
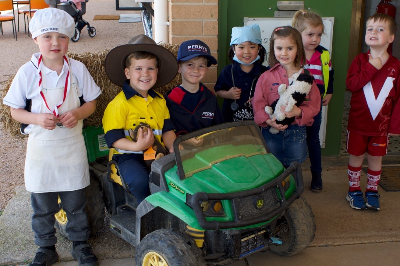
[{"label": "whiteboard with grey frame on green wall behind the girls", "polygon": [[[251,24],[258,24],[261,29],[262,46],[267,51],[266,59],[268,59],[268,51],[270,50],[270,38],[272,31],[279,26],[292,26],[293,18],[244,18],[244,26]],[[333,36],[333,23],[335,18],[322,18],[324,23],[325,34],[321,37],[320,45],[324,46],[329,50],[332,58],[332,36]],[[264,62],[264,65],[268,65],[268,62]],[[326,136],[326,118],[328,116],[328,106],[322,107],[322,122],[320,128],[320,144],[321,148],[325,148],[325,136]]]}]

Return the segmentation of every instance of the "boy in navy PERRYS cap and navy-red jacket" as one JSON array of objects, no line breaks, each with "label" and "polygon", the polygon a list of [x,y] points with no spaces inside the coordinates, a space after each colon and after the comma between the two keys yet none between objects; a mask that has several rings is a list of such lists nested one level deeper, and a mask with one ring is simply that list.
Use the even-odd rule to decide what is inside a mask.
[{"label": "boy in navy PERRYS cap and navy-red jacket", "polygon": [[182,84],[165,95],[176,136],[224,122],[217,97],[200,81],[217,60],[200,40],[184,41],[178,50]]}]

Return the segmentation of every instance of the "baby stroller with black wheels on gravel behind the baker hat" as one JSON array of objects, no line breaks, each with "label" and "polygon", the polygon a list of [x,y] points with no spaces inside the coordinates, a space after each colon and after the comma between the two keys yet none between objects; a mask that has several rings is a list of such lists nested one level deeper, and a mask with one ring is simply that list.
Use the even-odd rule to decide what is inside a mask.
[{"label": "baby stroller with black wheels on gravel behind the baker hat", "polygon": [[73,2],[71,2],[70,0],[61,0],[61,1],[62,2],[57,4],[57,8],[64,10],[65,12],[70,14],[70,16],[72,18],[74,18],[75,23],[76,23],[75,35],[74,35],[74,37],[71,38],[71,41],[73,41],[75,43],[79,40],[80,32],[85,26],[88,26],[88,34],[90,37],[96,36],[96,29],[94,27],[90,26],[89,22],[84,20],[82,17],[86,13],[86,2],[88,2],[89,0],[85,0],[84,2],[81,2],[82,3],[82,11],[80,11],[78,8],[76,8],[75,4]]}]

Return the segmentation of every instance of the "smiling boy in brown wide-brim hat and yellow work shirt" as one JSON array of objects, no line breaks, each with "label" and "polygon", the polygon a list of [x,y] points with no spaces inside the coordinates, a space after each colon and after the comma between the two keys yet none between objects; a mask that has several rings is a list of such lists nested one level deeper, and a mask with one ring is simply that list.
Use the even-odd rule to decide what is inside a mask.
[{"label": "smiling boy in brown wide-brim hat and yellow work shirt", "polygon": [[[174,79],[178,62],[170,51],[141,34],[128,44],[113,48],[106,57],[105,70],[122,91],[104,111],[104,138],[108,147],[114,148],[113,159],[120,174],[140,203],[150,195],[145,151],[156,139],[172,152],[176,138],[165,99],[153,89]],[[150,128],[146,132],[140,128],[135,142],[128,130],[140,123]]]}]

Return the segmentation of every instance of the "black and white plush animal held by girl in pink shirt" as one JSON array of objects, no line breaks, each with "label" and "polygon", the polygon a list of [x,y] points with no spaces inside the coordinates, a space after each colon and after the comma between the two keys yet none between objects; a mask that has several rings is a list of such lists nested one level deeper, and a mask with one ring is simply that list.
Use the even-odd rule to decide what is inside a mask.
[{"label": "black and white plush animal held by girl in pink shirt", "polygon": [[[285,111],[290,112],[294,105],[298,107],[302,104],[311,90],[312,81],[314,81],[314,77],[304,73],[294,73],[292,79],[294,81],[288,87],[286,84],[279,85],[279,98],[272,102],[271,106],[265,106],[265,112],[270,115],[270,118],[276,117],[276,124],[290,125],[293,123],[294,117],[286,117],[280,108],[286,106]],[[279,130],[270,127],[270,132],[276,134]]]}]

